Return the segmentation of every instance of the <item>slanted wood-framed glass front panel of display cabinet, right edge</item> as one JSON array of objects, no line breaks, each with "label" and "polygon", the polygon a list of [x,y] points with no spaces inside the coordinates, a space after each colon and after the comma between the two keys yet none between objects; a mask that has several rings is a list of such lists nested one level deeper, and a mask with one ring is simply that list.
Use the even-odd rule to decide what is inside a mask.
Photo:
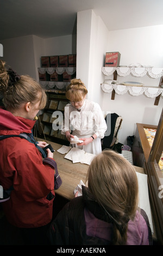
[{"label": "slanted wood-framed glass front panel of display cabinet, right edge", "polygon": [[[149,136],[149,134],[148,134]],[[148,138],[149,139],[149,138]],[[151,141],[150,141],[151,142]],[[146,163],[156,236],[163,245],[163,109]]]}]

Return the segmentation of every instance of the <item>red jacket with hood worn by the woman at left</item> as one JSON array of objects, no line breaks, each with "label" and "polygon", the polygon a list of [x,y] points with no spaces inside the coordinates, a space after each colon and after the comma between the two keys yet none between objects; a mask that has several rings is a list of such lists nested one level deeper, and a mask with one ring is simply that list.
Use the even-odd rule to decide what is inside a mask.
[{"label": "red jacket with hood worn by the woman at left", "polygon": [[[15,117],[0,108],[0,136],[31,133],[35,121]],[[34,144],[19,137],[0,141],[0,185],[8,190],[13,185],[10,199],[2,203],[8,221],[21,228],[40,227],[52,219],[54,195],[54,167],[42,161]]]}]

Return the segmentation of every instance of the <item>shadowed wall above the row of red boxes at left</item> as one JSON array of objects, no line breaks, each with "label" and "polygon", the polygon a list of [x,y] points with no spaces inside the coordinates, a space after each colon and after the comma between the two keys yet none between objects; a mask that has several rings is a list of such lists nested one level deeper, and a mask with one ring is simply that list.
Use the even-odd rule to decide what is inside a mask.
[{"label": "shadowed wall above the row of red boxes at left", "polygon": [[41,56],[76,53],[76,35],[42,39],[35,35],[21,36],[2,40],[3,57],[12,69],[20,75],[32,76],[37,81],[37,68],[41,66]]}]

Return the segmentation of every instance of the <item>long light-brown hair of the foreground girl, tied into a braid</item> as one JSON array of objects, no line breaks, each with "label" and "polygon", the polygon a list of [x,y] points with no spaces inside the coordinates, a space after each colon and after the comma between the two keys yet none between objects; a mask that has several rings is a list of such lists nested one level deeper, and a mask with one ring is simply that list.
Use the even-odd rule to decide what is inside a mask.
[{"label": "long light-brown hair of the foreground girl, tied into a braid", "polygon": [[138,183],[135,169],[113,150],[102,151],[87,172],[90,192],[112,224],[112,244],[126,245],[129,220],[138,208]]}]

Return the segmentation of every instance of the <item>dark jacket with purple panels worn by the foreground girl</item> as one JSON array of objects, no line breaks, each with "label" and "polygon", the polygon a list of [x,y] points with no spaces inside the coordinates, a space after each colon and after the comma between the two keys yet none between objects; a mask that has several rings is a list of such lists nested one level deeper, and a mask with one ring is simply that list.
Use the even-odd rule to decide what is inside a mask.
[{"label": "dark jacket with purple panels worn by the foreground girl", "polygon": [[[109,216],[83,187],[83,196],[67,203],[52,222],[48,237],[51,245],[111,245]],[[127,245],[151,245],[152,234],[145,211],[136,212],[128,222]]]}]

